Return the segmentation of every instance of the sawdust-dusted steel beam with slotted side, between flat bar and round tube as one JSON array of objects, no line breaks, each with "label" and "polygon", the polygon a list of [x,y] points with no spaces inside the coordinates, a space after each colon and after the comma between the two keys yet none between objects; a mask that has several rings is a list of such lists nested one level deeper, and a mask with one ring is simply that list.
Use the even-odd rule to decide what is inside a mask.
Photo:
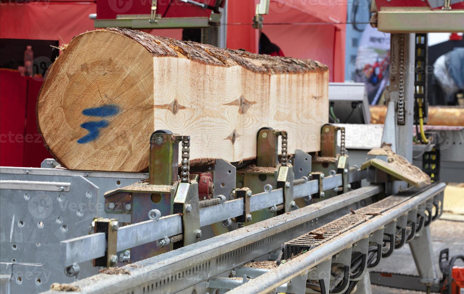
[{"label": "sawdust-dusted steel beam with slotted side, between flat bar and round tube", "polygon": [[72,285],[85,293],[144,293],[147,289],[175,293],[192,287],[197,293],[204,293],[209,278],[268,254],[283,242],[349,213],[349,208],[367,205],[372,202],[371,197],[381,192],[381,186],[353,190],[290,214],[122,267],[129,270],[130,275],[99,274]]}]

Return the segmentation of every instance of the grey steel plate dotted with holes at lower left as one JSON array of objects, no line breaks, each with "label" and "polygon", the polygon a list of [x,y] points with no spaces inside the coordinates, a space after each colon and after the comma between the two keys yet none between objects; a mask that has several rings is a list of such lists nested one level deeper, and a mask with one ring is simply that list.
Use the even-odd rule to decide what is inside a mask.
[{"label": "grey steel plate dotted with holes at lower left", "polygon": [[[40,181],[7,181],[6,189],[2,176],[0,269],[1,275],[12,277],[10,289],[18,290],[13,293],[42,292],[53,282],[76,281],[58,266],[60,242],[89,233],[98,188],[82,176],[67,179],[59,183],[66,187],[61,190],[55,189],[55,182]],[[42,190],[32,190],[37,186]],[[98,272],[89,262],[79,267],[79,278]]]}]

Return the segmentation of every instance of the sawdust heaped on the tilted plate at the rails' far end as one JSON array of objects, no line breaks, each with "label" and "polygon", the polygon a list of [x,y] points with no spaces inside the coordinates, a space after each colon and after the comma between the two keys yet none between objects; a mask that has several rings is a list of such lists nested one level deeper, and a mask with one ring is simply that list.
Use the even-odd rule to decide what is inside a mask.
[{"label": "sawdust heaped on the tilted plate at the rails' far end", "polygon": [[384,145],[381,148],[374,148],[367,153],[367,155],[386,155],[388,157],[388,165],[403,175],[414,178],[417,182],[425,182],[430,184],[430,177],[419,169],[419,167],[412,165],[403,156],[393,152],[389,145]]}]

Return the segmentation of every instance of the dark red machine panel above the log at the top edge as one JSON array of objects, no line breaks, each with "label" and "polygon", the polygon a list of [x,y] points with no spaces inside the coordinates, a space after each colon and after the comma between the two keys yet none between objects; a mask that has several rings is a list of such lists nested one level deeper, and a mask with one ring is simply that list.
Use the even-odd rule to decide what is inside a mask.
[{"label": "dark red machine panel above the log at the top edge", "polygon": [[[150,14],[151,2],[149,0],[97,0],[97,19],[114,19],[120,14]],[[197,0],[197,2],[214,6],[216,0]],[[211,10],[180,0],[158,0],[156,14],[167,18],[209,17]]]}]

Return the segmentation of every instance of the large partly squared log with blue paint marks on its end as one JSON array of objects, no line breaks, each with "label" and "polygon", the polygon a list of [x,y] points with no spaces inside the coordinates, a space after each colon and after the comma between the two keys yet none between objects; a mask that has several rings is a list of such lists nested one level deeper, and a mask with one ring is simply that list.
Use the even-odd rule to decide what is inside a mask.
[{"label": "large partly squared log with blue paint marks on its end", "polygon": [[71,169],[142,171],[156,129],[191,136],[190,155],[256,157],[262,127],[287,130],[289,153],[319,150],[328,68],[317,61],[105,29],[74,37],[48,69],[39,132]]}]

